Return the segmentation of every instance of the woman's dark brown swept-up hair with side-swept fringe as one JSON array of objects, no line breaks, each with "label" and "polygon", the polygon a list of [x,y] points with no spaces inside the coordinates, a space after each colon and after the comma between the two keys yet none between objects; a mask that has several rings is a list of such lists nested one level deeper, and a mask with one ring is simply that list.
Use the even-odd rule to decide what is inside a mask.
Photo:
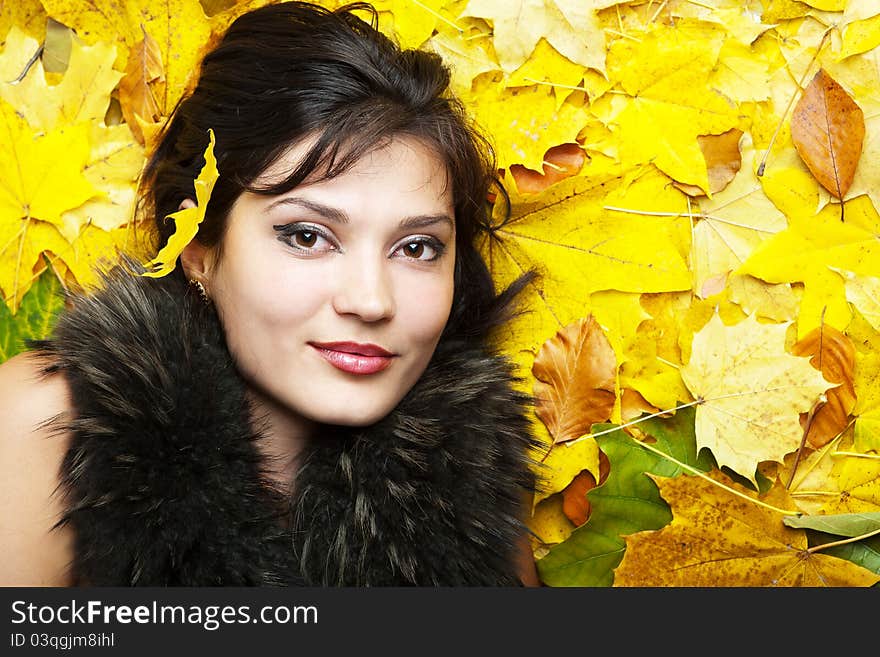
[{"label": "woman's dark brown swept-up hair with side-swept fringe", "polygon": [[[366,12],[368,23],[354,12]],[[142,178],[142,210],[160,246],[174,232],[166,217],[186,198],[216,136],[220,178],[197,239],[219,246],[226,217],[245,191],[280,194],[339,175],[394,136],[432,148],[445,163],[455,207],[453,307],[444,335],[484,338],[508,317],[529,273],[496,295],[475,246],[489,231],[488,194],[503,193],[489,142],[449,91],[441,58],[401,50],[376,29],[377,14],[356,3],[335,11],[281,2],[236,19],[201,64],[198,84],[172,113]],[[292,144],[314,137],[302,163],[270,186],[256,181]],[[180,271],[180,267],[177,268]],[[177,275],[181,275],[178,273]]]}]

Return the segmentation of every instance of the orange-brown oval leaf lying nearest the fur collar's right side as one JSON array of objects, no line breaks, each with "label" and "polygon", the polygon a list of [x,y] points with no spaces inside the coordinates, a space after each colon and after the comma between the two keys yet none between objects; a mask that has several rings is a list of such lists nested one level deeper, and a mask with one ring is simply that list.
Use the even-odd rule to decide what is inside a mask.
[{"label": "orange-brown oval leaf lying nearest the fur collar's right side", "polygon": [[544,343],[532,366],[535,413],[554,443],[579,438],[610,419],[616,372],[614,350],[592,315]]}]

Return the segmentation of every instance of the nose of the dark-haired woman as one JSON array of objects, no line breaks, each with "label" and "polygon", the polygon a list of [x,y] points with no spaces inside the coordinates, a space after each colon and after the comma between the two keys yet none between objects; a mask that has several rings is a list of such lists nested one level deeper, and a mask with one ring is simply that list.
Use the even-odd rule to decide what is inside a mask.
[{"label": "nose of the dark-haired woman", "polygon": [[337,313],[356,315],[365,322],[377,322],[394,315],[394,290],[385,258],[347,253],[338,262],[338,284],[333,296]]}]

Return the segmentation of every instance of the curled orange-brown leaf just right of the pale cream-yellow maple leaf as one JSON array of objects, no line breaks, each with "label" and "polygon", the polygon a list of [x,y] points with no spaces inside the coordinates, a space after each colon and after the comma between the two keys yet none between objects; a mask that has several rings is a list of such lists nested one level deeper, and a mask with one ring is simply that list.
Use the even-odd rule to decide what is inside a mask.
[{"label": "curled orange-brown leaf just right of the pale cream-yellow maple leaf", "polygon": [[[795,356],[810,356],[810,364],[832,383],[839,383],[825,393],[827,402],[813,416],[807,432],[807,443],[813,448],[827,445],[849,424],[849,415],[856,404],[853,370],[856,350],[852,341],[827,324],[813,329],[792,348]],[[806,427],[807,417],[801,425]]]}]

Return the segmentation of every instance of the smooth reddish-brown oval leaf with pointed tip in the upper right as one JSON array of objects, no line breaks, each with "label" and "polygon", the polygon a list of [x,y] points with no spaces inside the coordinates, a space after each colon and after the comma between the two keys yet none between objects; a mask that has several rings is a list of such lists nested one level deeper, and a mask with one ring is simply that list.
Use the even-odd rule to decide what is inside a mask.
[{"label": "smooth reddish-brown oval leaf with pointed tip in the upper right", "polygon": [[852,185],[864,137],[861,108],[825,69],[819,69],[795,105],[791,138],[819,184],[838,199]]}]

